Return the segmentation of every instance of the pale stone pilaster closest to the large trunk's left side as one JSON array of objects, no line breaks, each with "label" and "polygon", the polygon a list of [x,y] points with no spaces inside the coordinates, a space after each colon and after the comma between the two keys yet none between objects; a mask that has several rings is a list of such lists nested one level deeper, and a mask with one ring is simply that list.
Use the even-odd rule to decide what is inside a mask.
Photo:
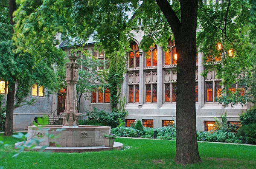
[{"label": "pale stone pilaster closest to the large trunk's left side", "polygon": [[163,47],[157,46],[157,108],[163,104]]}]

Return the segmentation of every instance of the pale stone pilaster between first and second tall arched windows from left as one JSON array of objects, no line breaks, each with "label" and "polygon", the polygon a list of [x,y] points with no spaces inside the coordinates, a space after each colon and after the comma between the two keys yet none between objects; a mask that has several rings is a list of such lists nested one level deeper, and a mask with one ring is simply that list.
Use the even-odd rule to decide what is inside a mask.
[{"label": "pale stone pilaster between first and second tall arched windows from left", "polygon": [[143,95],[144,95],[144,57],[143,57],[143,50],[140,49],[140,104],[139,106],[142,106],[144,103]]}]

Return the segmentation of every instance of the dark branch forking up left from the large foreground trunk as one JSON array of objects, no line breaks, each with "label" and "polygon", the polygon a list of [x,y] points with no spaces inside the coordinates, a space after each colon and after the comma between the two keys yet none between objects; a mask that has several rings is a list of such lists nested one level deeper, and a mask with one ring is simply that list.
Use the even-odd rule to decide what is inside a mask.
[{"label": "dark branch forking up left from the large foreground trunk", "polygon": [[157,5],[166,17],[173,34],[178,34],[178,28],[180,27],[180,20],[170,6],[168,0],[156,0]]}]

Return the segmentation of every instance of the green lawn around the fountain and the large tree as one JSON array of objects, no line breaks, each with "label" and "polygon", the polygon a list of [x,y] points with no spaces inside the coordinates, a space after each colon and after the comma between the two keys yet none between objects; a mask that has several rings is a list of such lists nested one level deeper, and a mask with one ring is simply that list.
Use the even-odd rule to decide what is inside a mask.
[{"label": "green lawn around the fountain and the large tree", "polygon": [[[13,137],[3,137],[14,144]],[[4,169],[125,169],[125,168],[186,168],[186,169],[255,169],[256,146],[198,143],[202,163],[176,164],[175,141],[116,138],[124,150],[85,153],[22,152],[12,158],[17,150],[0,161]],[[0,157],[6,153],[0,145]]]}]

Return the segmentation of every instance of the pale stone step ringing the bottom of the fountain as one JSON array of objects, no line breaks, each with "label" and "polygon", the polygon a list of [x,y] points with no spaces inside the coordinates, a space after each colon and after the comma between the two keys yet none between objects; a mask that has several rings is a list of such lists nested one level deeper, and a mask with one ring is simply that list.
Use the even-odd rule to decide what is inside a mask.
[{"label": "pale stone step ringing the bottom of the fountain", "polygon": [[[22,144],[23,142],[15,143],[15,149],[17,146]],[[43,146],[35,146],[35,148],[31,149],[31,151],[40,151]],[[122,149],[123,144],[119,142],[115,142],[113,147],[106,146],[87,146],[87,147],[56,147],[56,146],[48,146],[44,149],[44,152],[99,152],[99,151],[107,151],[113,149]],[[30,149],[25,149],[26,151],[30,151]]]}]

